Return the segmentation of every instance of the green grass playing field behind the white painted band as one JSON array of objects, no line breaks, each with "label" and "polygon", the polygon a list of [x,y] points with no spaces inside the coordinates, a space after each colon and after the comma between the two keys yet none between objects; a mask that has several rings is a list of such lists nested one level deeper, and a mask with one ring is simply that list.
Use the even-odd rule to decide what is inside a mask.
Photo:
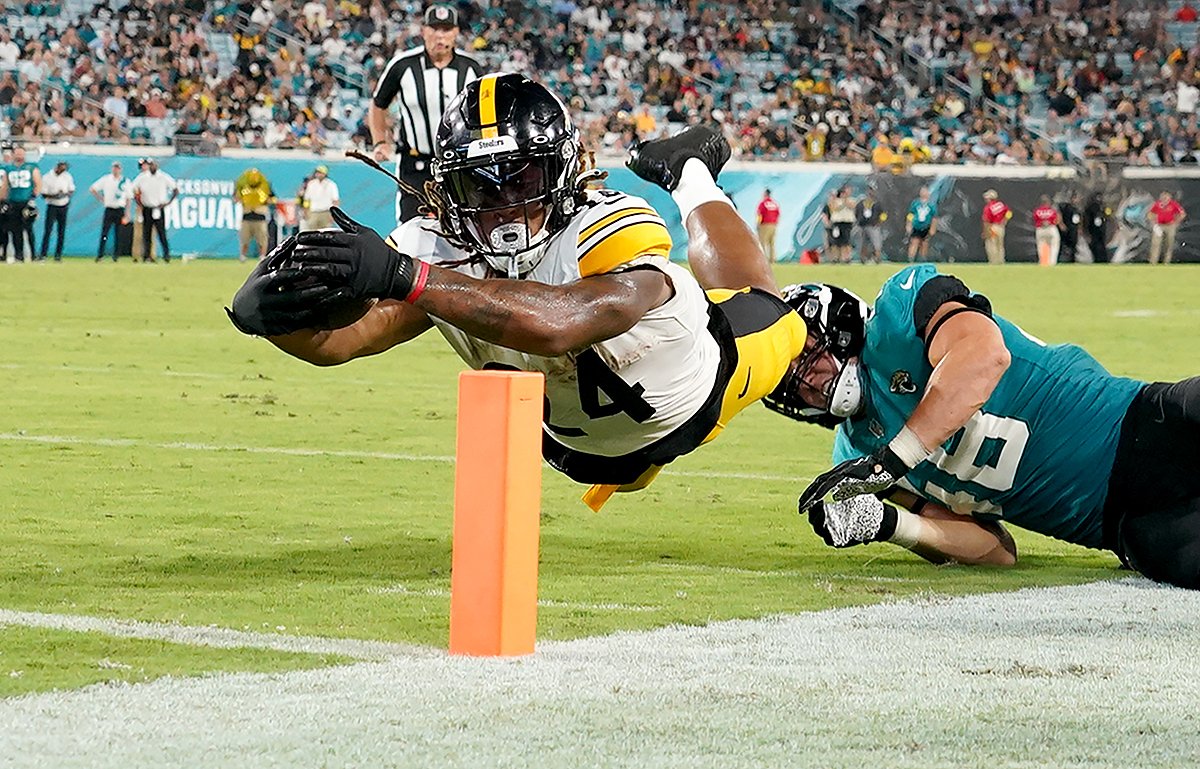
[{"label": "green grass playing field behind the white painted band", "polygon": [[[430,332],[336,368],[289,359],[221,310],[246,269],[0,265],[0,611],[444,645],[457,358]],[[869,299],[894,269],[779,277]],[[1198,268],[954,272],[1115,373],[1200,371]],[[539,637],[1118,575],[1110,554],[1020,533],[1009,570],[828,549],[794,500],[830,439],[752,408],[600,515],[546,469]],[[0,627],[0,696],[336,660]]]}]

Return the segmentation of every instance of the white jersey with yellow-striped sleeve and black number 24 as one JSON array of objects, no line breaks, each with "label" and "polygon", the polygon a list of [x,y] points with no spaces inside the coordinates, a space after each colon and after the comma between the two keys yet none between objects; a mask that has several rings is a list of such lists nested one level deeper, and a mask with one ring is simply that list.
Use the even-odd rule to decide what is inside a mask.
[{"label": "white jersey with yellow-striped sleeve and black number 24", "polygon": [[[469,254],[442,238],[431,220],[410,220],[390,240],[430,264],[473,277],[500,277],[482,259],[464,262]],[[556,440],[576,451],[623,456],[700,410],[716,380],[721,353],[708,331],[708,300],[696,278],[671,263],[670,253],[666,224],[646,200],[608,190],[589,192],[588,205],[550,241],[526,278],[562,286],[649,265],[671,280],[671,299],[620,336],[557,358],[518,353],[431,318],[472,368],[491,364],[542,372],[550,407],[544,426]]]}]

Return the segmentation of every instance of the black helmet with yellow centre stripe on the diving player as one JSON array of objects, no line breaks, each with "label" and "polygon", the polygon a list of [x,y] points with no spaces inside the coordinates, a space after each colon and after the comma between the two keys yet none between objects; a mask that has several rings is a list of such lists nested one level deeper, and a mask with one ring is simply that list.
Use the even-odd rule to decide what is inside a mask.
[{"label": "black helmet with yellow centre stripe on the diving player", "polygon": [[580,205],[580,138],[563,102],[523,74],[486,74],[446,108],[433,180],[444,233],[508,277],[527,275]]}]

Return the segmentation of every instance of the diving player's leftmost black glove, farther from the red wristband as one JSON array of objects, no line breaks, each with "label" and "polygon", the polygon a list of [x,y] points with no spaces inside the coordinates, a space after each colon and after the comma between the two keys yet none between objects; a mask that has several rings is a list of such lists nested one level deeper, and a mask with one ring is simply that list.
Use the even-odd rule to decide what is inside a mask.
[{"label": "diving player's leftmost black glove, farther from the red wristband", "polygon": [[226,314],[242,334],[278,336],[300,329],[319,328],[326,308],[344,302],[349,288],[330,287],[329,274],[301,270],[289,262],[296,239],[288,238],[254,265],[233,298]]}]

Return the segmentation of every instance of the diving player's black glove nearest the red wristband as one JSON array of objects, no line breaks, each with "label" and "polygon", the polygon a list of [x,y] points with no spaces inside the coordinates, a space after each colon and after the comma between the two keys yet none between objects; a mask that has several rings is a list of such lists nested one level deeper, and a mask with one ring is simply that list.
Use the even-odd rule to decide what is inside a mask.
[{"label": "diving player's black glove nearest the red wristband", "polygon": [[353,299],[408,299],[419,263],[400,253],[370,227],[338,208],[330,209],[342,232],[324,229],[296,235],[294,260],[323,281],[342,283]]}]

